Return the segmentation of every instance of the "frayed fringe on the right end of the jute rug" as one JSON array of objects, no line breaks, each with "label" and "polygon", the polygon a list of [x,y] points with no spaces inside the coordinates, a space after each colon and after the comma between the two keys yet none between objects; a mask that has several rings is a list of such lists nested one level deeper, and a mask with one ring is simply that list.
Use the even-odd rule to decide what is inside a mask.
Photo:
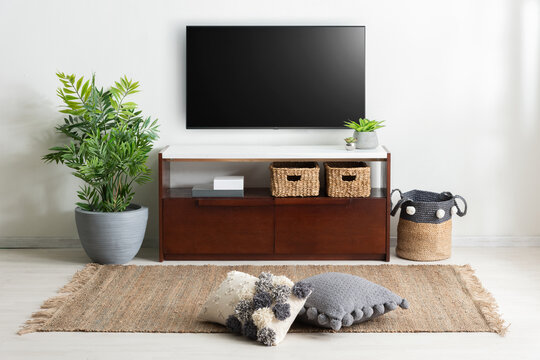
[{"label": "frayed fringe on the right end of the jute rug", "polygon": [[471,297],[480,311],[480,313],[486,319],[487,324],[497,334],[504,336],[510,324],[501,318],[499,314],[499,306],[495,301],[495,298],[489,291],[487,291],[480,280],[474,274],[474,270],[470,265],[456,266],[456,271],[461,276],[465,287],[471,294]]}]

